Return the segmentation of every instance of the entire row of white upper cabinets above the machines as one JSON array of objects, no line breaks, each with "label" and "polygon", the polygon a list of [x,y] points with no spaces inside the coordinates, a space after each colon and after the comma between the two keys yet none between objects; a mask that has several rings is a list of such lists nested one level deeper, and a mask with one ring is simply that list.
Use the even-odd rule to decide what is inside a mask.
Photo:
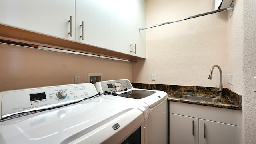
[{"label": "entire row of white upper cabinets above the machines", "polygon": [[0,0],[0,24],[146,58],[145,0]]}]

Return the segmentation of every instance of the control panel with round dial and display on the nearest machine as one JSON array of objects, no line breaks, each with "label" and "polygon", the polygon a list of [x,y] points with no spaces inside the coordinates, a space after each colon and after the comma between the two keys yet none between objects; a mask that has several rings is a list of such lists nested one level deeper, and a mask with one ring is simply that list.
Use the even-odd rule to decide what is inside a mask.
[{"label": "control panel with round dial and display on the nearest machine", "polygon": [[76,102],[98,92],[93,84],[69,84],[0,93],[1,117]]}]

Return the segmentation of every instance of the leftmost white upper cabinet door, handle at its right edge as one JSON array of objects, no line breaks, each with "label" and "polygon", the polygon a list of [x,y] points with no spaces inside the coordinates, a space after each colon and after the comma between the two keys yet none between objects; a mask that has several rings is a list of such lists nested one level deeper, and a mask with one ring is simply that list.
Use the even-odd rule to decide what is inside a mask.
[{"label": "leftmost white upper cabinet door, handle at its right edge", "polygon": [[70,37],[70,16],[74,30],[75,0],[1,0],[1,24],[58,38]]}]

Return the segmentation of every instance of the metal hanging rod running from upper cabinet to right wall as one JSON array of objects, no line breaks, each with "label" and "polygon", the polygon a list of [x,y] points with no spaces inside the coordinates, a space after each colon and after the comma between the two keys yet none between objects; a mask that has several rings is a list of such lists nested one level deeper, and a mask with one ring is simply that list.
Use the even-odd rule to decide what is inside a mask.
[{"label": "metal hanging rod running from upper cabinet to right wall", "polygon": [[[232,6],[230,6],[230,7],[228,7],[228,8],[223,8],[223,9],[220,9],[220,10],[214,10],[212,12],[206,12],[206,13],[198,14],[198,15],[194,15],[194,16],[189,16],[189,17],[186,17],[186,18],[181,18],[181,19],[178,19],[178,20],[174,20],[174,21],[171,21],[171,22],[165,22],[165,23],[162,23],[162,24],[156,24],[156,25],[153,25],[153,26],[147,26],[145,28],[139,28],[139,30],[145,30],[145,29],[148,29],[148,28],[154,28],[156,26],[162,26],[164,24],[171,24],[171,23],[174,23],[174,22],[180,22],[182,20],[188,20],[190,18],[196,18],[196,17],[199,17],[199,16],[205,16],[205,15],[208,15],[208,14],[214,14],[214,13],[223,12],[223,11],[226,11],[226,10],[232,10],[232,14],[233,14],[233,9],[234,9],[234,4]],[[232,16],[232,14],[231,14],[231,16]]]}]

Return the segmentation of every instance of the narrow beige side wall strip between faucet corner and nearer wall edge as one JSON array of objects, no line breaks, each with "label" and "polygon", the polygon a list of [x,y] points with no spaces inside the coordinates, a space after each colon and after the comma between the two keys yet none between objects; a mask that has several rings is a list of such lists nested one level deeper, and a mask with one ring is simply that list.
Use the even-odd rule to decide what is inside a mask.
[{"label": "narrow beige side wall strip between faucet corner and nearer wall edge", "polygon": [[243,95],[243,1],[234,0],[235,8],[231,18],[228,18],[228,73],[233,74],[233,85],[228,88]]}]

